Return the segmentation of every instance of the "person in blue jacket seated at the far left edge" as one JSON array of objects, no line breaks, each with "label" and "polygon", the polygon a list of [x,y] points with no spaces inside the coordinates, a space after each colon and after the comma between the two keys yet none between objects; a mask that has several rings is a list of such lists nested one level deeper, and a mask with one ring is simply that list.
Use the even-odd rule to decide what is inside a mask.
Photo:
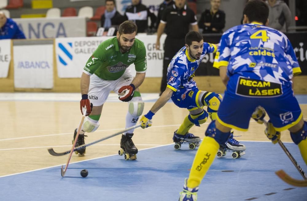
[{"label": "person in blue jacket seated at the far left edge", "polygon": [[6,18],[0,11],[0,39],[25,39],[25,34],[19,29],[16,22]]}]

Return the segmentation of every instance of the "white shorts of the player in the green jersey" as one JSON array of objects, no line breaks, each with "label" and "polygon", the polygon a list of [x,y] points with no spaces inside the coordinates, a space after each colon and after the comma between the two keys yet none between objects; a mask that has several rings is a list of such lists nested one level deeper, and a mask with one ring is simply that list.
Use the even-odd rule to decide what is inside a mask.
[{"label": "white shorts of the player in the green jersey", "polygon": [[130,69],[126,69],[122,77],[117,80],[104,80],[92,74],[88,88],[88,99],[93,106],[100,106],[106,102],[111,90],[118,94],[118,90],[122,86],[130,85],[132,80]]}]

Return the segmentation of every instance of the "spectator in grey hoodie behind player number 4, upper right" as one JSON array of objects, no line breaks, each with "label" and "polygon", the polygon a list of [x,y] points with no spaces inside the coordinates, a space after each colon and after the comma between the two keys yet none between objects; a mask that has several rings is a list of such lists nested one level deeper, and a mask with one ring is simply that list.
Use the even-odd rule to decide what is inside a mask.
[{"label": "spectator in grey hoodie behind player number 4, upper right", "polygon": [[286,32],[291,24],[291,12],[287,4],[280,0],[268,0],[269,25],[268,27]]}]

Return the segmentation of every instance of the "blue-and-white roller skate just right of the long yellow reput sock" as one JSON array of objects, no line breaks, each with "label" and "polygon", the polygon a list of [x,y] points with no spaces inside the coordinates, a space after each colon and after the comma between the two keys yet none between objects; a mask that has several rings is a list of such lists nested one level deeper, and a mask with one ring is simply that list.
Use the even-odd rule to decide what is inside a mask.
[{"label": "blue-and-white roller skate just right of the long yellow reput sock", "polygon": [[229,151],[232,152],[232,158],[239,158],[245,154],[245,150],[245,145],[235,140],[235,138],[233,138],[233,132],[231,132],[227,142],[225,143],[225,145],[220,145],[220,149],[216,155],[218,157],[223,157],[226,155],[226,151]]}]

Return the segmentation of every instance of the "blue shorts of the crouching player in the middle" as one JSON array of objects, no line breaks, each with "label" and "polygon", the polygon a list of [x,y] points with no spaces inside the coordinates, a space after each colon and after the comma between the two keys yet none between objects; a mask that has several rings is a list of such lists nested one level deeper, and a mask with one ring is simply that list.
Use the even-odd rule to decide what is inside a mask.
[{"label": "blue shorts of the crouching player in the middle", "polygon": [[173,92],[171,99],[179,108],[201,108],[198,105],[197,98],[200,93],[200,90],[197,87],[192,89],[181,90],[180,92]]}]

